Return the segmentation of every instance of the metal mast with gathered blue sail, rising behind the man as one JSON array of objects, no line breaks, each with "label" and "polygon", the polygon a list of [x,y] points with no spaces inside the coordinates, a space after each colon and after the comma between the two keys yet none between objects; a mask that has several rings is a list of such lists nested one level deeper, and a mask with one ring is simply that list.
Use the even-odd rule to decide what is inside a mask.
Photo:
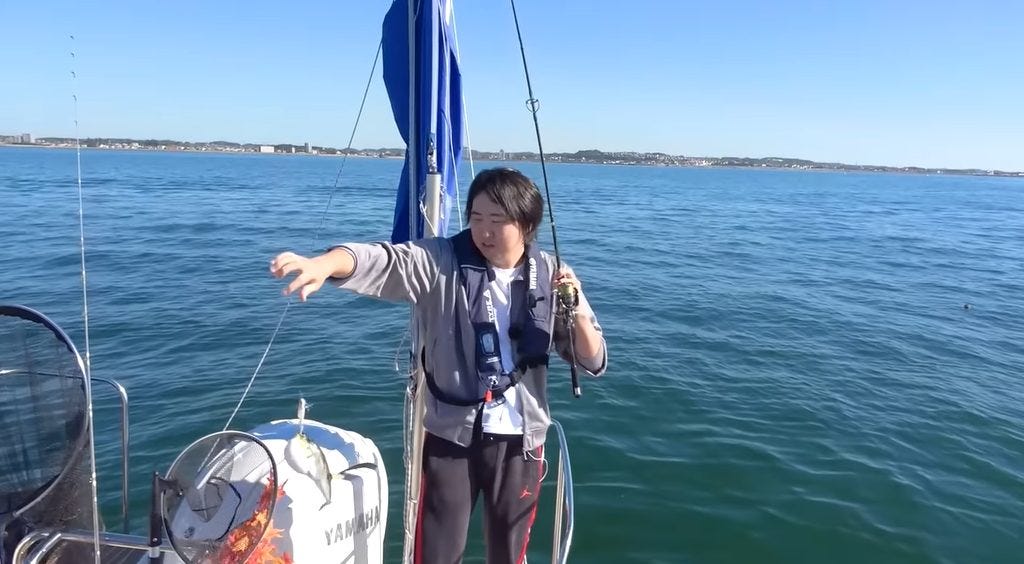
[{"label": "metal mast with gathered blue sail, rising behind the man", "polygon": [[[394,0],[384,17],[384,85],[395,125],[407,143],[395,200],[391,242],[444,236],[462,155],[462,87],[450,28],[451,0]],[[408,214],[408,215],[403,215]],[[406,402],[406,511],[403,562],[413,561],[424,396],[420,366],[423,335],[410,314],[411,374]]]}]

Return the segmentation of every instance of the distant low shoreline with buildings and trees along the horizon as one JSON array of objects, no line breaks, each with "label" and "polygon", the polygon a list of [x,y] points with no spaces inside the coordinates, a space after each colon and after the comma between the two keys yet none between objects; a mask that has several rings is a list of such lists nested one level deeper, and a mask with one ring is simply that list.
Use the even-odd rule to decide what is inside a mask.
[{"label": "distant low shoreline with buildings and trees along the horizon", "polygon": [[[337,149],[313,145],[255,143],[232,143],[212,141],[194,143],[174,140],[136,140],[120,138],[88,138],[80,141],[82,148],[98,150],[138,150],[161,153],[214,153],[224,155],[279,155],[302,157],[353,157],[361,159],[402,159],[404,148],[362,148]],[[36,148],[75,148],[76,140],[66,137],[42,137],[33,143],[0,142],[0,146]],[[472,158],[481,161],[540,162],[535,153],[529,151],[481,151],[472,149]],[[889,174],[923,174],[955,176],[989,176],[1002,178],[1024,178],[1024,172],[986,169],[947,169],[926,167],[890,167],[874,165],[848,165],[844,163],[819,163],[804,159],[785,158],[735,158],[735,157],[683,157],[664,153],[579,150],[575,153],[545,154],[545,161],[562,164],[617,165],[673,168],[728,168],[728,169],[772,169],[807,170],[824,172],[874,172]]]}]

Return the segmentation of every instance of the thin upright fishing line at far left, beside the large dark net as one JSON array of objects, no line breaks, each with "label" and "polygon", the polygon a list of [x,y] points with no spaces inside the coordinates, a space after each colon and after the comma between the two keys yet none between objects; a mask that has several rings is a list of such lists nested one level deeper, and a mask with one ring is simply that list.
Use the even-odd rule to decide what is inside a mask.
[{"label": "thin upright fishing line at far left, beside the large dark net", "polygon": [[72,42],[72,99],[74,100],[75,117],[75,180],[78,184],[78,243],[79,260],[82,265],[82,323],[85,333],[85,359],[83,367],[85,374],[85,405],[87,410],[86,424],[89,426],[89,483],[92,489],[92,551],[93,559],[99,564],[99,501],[96,492],[96,437],[93,433],[92,424],[92,355],[89,349],[89,292],[86,280],[88,276],[85,269],[85,198],[82,190],[82,142],[78,125],[78,74],[75,72],[77,58],[75,56],[75,36],[71,37]]}]

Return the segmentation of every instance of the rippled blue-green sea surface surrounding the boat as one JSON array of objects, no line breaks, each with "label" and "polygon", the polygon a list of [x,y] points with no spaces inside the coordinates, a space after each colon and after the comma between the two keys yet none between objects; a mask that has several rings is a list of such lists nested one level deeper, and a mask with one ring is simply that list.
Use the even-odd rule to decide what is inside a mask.
[{"label": "rippled blue-green sea surface surrounding the boat", "polygon": [[[267,262],[314,247],[341,160],[82,161],[93,374],[128,389],[138,532],[151,473],[230,415],[286,304]],[[349,160],[315,247],[385,238],[399,168]],[[567,368],[551,382],[577,481],[573,562],[1024,561],[1024,181],[549,174],[562,253],[610,355],[579,400]],[[75,153],[0,147],[0,301],[83,348]],[[302,395],[311,417],[372,437],[391,560],[407,319],[332,289],[293,304],[234,424],[292,417]],[[97,402],[116,526],[117,411],[101,388]],[[468,561],[482,561],[479,536]]]}]

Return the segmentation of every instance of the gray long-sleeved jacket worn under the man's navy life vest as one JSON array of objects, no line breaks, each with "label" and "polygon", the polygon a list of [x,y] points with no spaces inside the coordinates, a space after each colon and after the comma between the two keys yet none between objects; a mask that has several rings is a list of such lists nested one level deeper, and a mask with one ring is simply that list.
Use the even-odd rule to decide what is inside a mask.
[{"label": "gray long-sleeved jacket worn under the man's navy life vest", "polygon": [[[479,378],[472,367],[459,365],[454,343],[456,323],[462,323],[464,350],[474,350],[475,334],[469,320],[466,292],[459,279],[455,250],[447,238],[424,238],[399,245],[390,243],[345,244],[339,246],[355,259],[355,270],[346,278],[331,278],[338,288],[364,296],[406,301],[415,306],[415,329],[426,347],[424,366],[438,387],[464,397],[481,395]],[[555,259],[542,252],[549,270],[555,272]],[[562,266],[565,266],[563,263]],[[554,296],[551,298],[554,300]],[[585,296],[580,296],[581,311],[590,313],[600,331]],[[555,317],[552,315],[552,322]],[[561,322],[551,332],[558,354],[568,360],[568,336]],[[514,348],[514,347],[513,347]],[[415,360],[419,364],[420,359]],[[594,358],[580,358],[579,364],[592,376],[600,376],[607,365],[607,351]],[[548,407],[548,370],[527,370],[516,387],[523,418],[523,447],[534,449],[544,444],[551,414]],[[568,383],[566,383],[566,392]],[[478,405],[459,406],[438,401],[427,393],[423,426],[430,433],[452,442],[469,446]]]}]

